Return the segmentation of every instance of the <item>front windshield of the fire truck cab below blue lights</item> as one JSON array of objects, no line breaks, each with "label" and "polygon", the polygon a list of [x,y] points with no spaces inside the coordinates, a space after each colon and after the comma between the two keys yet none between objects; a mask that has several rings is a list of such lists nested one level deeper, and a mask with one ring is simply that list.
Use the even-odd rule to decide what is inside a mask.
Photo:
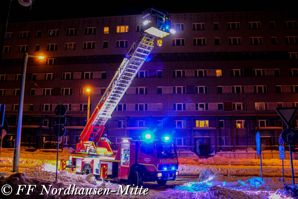
[{"label": "front windshield of the fire truck cab below blue lights", "polygon": [[156,143],[157,158],[176,158],[176,145],[172,143]]}]

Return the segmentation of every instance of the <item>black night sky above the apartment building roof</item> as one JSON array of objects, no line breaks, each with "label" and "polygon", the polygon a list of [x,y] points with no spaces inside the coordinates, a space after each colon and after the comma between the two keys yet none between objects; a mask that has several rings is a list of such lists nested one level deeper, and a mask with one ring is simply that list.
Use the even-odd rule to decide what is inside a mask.
[{"label": "black night sky above the apartment building roof", "polygon": [[[6,20],[8,2],[9,0],[1,0],[0,23]],[[152,1],[152,4],[148,2],[150,1],[35,0],[30,8],[30,6],[22,6],[18,3],[18,0],[13,0],[10,7],[9,22],[134,15],[141,14],[142,11],[150,7],[168,13],[190,13],[297,10],[298,5],[297,2],[287,3],[286,1],[283,1],[282,5],[273,3],[273,1],[219,1],[220,3],[217,1],[181,1],[183,3],[178,3],[177,1],[166,1],[167,3]]]}]

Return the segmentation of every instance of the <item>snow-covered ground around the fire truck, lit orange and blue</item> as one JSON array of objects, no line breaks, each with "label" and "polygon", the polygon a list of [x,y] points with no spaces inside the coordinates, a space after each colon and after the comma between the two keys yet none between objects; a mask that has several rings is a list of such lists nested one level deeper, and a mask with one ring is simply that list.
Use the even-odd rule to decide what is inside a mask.
[{"label": "snow-covered ground around the fire truck, lit orange and blue", "polygon": [[[51,190],[68,188],[110,188],[118,190],[119,181],[108,179],[102,183],[93,175],[76,175],[71,170],[60,171],[58,182],[55,182],[56,153],[36,150],[27,152],[21,147],[19,172],[12,173],[13,150],[2,149],[0,161],[0,188],[6,184],[13,187],[14,192],[10,198],[23,198],[28,189],[19,195],[19,184],[36,185],[30,198],[41,198],[42,185],[50,186]],[[67,159],[74,152],[72,148],[64,148],[59,153],[61,158]],[[149,188],[148,195],[101,195],[101,198],[291,198],[283,191],[281,160],[263,160],[263,176],[260,178],[260,160],[257,159],[227,159],[213,156],[208,159],[199,159],[197,156],[179,158],[179,177],[176,181],[169,181],[165,186],[158,186],[156,182],[144,183],[144,188]],[[294,169],[298,161],[294,160]],[[291,184],[291,167],[289,161],[284,161],[285,183]],[[298,170],[295,170],[298,175]],[[123,185],[123,187],[125,187]],[[23,195],[22,195],[23,194]],[[1,194],[0,194],[1,195]],[[17,197],[16,197],[17,196]],[[72,195],[59,195],[60,198],[75,198]],[[54,196],[49,195],[50,198]],[[28,195],[27,195],[27,198]],[[76,198],[86,198],[86,195],[77,195]],[[87,198],[98,198],[91,195]]]}]

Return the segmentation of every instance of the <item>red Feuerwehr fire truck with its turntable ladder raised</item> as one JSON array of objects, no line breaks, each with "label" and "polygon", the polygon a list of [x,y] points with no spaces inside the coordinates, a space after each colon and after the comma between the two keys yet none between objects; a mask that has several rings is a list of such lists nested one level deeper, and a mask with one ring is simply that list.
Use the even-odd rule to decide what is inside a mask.
[{"label": "red Feuerwehr fire truck with its turntable ladder raised", "polygon": [[159,185],[165,185],[178,175],[176,145],[169,141],[168,136],[162,140],[151,139],[150,134],[143,140],[140,137],[122,138],[116,155],[107,141],[100,140],[106,121],[111,118],[112,112],[152,51],[154,39],[175,32],[170,29],[171,17],[158,10],[149,8],[142,13],[142,18],[146,28],[141,38],[132,44],[84,127],[80,143],[76,145],[77,153],[88,156],[69,157],[68,167],[74,168],[77,174],[91,173],[98,176],[102,172],[102,165],[107,165],[108,176],[135,186],[145,181],[157,181]]}]

